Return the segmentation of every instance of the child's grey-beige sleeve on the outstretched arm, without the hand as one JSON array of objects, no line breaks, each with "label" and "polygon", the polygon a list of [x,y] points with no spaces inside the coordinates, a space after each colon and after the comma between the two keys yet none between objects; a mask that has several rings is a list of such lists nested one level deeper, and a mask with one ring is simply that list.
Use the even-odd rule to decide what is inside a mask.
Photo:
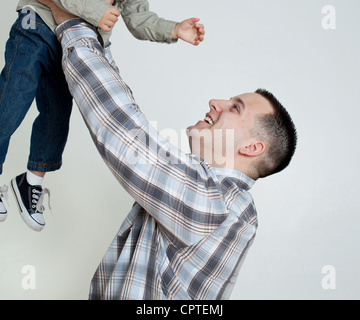
[{"label": "child's grey-beige sleeve on the outstretched arm, without the hand", "polygon": [[139,40],[174,43],[172,32],[177,22],[159,18],[149,11],[147,0],[125,0],[122,3],[122,17],[129,31]]}]

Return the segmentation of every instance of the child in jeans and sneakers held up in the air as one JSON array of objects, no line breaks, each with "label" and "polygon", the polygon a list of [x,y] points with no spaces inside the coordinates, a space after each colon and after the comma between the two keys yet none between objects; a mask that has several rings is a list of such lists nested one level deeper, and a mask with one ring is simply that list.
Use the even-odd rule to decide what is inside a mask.
[{"label": "child in jeans and sneakers held up in the air", "polygon": [[[111,30],[121,15],[129,31],[141,40],[173,43],[182,39],[198,45],[204,39],[199,19],[181,23],[159,18],[146,0],[54,0],[62,9],[98,27],[99,40],[109,61]],[[72,97],[61,67],[62,50],[51,11],[37,0],[20,0],[19,17],[6,44],[5,67],[0,75],[0,175],[12,134],[36,99],[39,116],[31,134],[28,171],[11,180],[24,222],[33,230],[45,226],[42,188],[46,172],[60,169],[66,144]],[[7,217],[2,201],[8,187],[0,188],[0,222]]]}]

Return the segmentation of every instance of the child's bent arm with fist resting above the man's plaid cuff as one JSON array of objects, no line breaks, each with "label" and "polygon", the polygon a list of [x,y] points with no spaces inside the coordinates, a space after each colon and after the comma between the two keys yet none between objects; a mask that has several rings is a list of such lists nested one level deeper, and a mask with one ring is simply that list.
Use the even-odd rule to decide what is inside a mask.
[{"label": "child's bent arm with fist resting above the man's plaid cuff", "polygon": [[53,0],[60,8],[109,32],[118,21],[120,11],[105,0]]}]

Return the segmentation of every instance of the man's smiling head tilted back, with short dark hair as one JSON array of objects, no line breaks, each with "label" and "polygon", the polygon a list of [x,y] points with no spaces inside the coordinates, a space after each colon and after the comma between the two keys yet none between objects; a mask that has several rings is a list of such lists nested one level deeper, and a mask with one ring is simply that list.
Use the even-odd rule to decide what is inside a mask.
[{"label": "man's smiling head tilted back, with short dark hair", "polygon": [[258,89],[229,100],[211,100],[209,106],[205,119],[188,128],[194,154],[255,180],[288,166],[296,148],[296,129],[270,92]]}]

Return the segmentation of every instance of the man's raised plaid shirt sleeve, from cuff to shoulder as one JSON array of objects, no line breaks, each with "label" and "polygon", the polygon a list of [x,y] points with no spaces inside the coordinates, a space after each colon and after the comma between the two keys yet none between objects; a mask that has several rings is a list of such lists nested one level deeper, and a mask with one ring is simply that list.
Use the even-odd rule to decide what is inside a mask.
[{"label": "man's raised plaid shirt sleeve, from cuff to shoulder", "polygon": [[72,19],[56,33],[70,91],[116,179],[170,237],[191,244],[214,232],[228,212],[211,169],[151,127],[88,24]]}]

